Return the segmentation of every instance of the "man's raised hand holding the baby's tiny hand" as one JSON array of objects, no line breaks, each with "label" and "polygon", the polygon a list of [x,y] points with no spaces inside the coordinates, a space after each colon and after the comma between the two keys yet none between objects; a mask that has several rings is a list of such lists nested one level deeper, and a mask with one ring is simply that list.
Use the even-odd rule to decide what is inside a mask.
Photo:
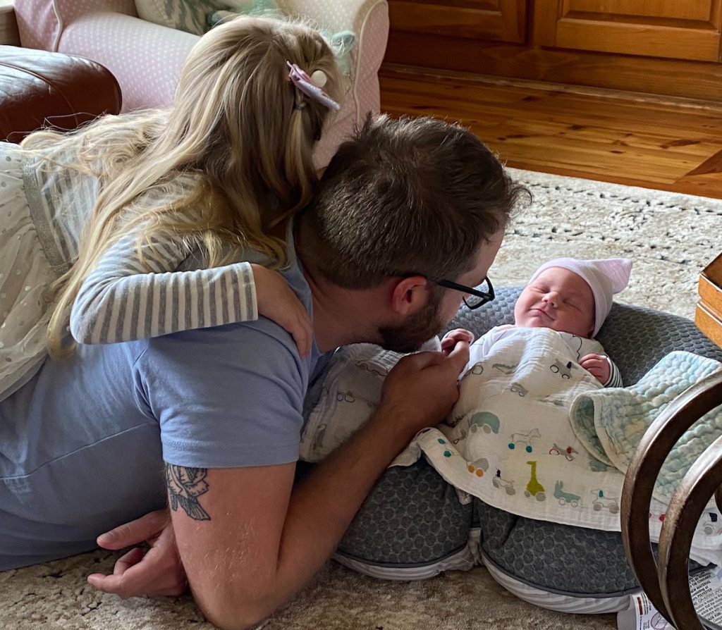
[{"label": "man's raised hand holding the baby's tiny hand", "polygon": [[469,343],[456,341],[448,356],[441,352],[419,352],[404,356],[383,382],[381,407],[393,411],[413,430],[443,420],[458,400],[458,375],[469,361]]}]

